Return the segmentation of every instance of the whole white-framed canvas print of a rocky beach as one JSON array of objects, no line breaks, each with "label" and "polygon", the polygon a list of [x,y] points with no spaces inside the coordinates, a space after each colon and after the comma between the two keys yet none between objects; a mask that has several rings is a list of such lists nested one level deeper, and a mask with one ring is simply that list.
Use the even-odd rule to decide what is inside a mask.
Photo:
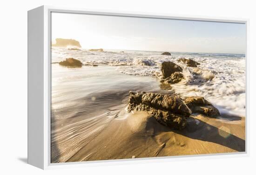
[{"label": "whole white-framed canvas print of a rocky beach", "polygon": [[247,25],[28,11],[28,163],[247,155]]}]

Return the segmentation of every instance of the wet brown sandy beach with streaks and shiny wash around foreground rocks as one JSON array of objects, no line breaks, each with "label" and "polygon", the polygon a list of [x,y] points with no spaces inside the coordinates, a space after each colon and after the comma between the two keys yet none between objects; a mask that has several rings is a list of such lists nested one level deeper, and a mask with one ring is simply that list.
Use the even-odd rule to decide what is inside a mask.
[{"label": "wet brown sandy beach with streaks and shiny wash around foreground rocks", "polygon": [[72,77],[53,69],[52,163],[245,151],[245,117],[193,114],[178,131],[146,112],[126,112],[128,91],[172,93],[157,78],[102,66],[69,70]]}]

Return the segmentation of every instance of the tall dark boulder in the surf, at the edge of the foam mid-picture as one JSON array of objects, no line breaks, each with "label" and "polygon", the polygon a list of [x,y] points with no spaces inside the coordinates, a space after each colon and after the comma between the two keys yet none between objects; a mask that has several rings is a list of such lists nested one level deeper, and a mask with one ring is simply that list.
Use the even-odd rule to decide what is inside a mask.
[{"label": "tall dark boulder in the surf, at the edge of the foam mid-picture", "polygon": [[162,78],[165,79],[170,77],[176,71],[178,72],[182,71],[182,68],[173,62],[165,61],[165,62],[162,62],[161,71],[162,71]]}]

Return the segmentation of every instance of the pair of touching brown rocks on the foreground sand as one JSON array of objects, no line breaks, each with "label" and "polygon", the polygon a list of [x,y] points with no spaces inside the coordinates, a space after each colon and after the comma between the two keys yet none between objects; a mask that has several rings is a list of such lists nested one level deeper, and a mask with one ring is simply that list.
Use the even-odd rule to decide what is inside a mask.
[{"label": "pair of touching brown rocks on the foreground sand", "polygon": [[189,97],[184,101],[175,95],[130,91],[127,111],[147,111],[155,119],[172,129],[182,130],[192,113],[209,117],[220,115],[219,111],[203,97]]}]

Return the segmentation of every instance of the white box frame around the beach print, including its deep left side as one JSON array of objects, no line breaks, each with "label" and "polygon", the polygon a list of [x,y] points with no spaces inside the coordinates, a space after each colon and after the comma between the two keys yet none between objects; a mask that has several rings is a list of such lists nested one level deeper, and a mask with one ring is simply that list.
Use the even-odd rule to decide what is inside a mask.
[{"label": "white box frame around the beach print, including its deep left side", "polygon": [[244,23],[247,30],[246,46],[246,111],[249,102],[249,58],[248,58],[248,25],[249,19],[230,19],[202,16],[148,14],[134,12],[91,11],[86,9],[40,6],[28,11],[28,163],[40,169],[67,167],[102,166],[116,164],[136,164],[138,162],[163,162],[191,159],[209,159],[223,157],[249,156],[249,115],[246,112],[246,148],[245,152],[207,154],[193,156],[166,156],[154,158],[137,158],[122,160],[90,161],[90,162],[50,162],[50,117],[51,117],[51,13],[101,14],[143,18],[187,19],[216,22]]}]

